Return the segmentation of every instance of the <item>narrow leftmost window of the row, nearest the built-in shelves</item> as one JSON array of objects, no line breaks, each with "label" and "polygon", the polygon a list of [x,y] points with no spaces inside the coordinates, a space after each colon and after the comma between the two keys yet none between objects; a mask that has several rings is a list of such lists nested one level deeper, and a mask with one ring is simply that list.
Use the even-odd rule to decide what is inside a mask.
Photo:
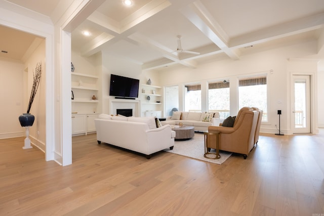
[{"label": "narrow leftmost window of the row, nearest the built-in shelves", "polygon": [[166,116],[172,116],[173,110],[179,110],[179,87],[178,85],[166,87]]}]

